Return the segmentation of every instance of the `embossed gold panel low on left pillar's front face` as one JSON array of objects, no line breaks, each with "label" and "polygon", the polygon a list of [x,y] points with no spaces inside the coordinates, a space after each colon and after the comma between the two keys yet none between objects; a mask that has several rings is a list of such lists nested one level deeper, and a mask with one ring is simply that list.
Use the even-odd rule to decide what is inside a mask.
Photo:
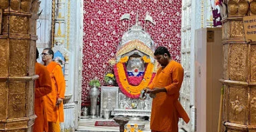
[{"label": "embossed gold panel low on left pillar's front face", "polygon": [[26,117],[26,82],[9,82],[8,118]]}]

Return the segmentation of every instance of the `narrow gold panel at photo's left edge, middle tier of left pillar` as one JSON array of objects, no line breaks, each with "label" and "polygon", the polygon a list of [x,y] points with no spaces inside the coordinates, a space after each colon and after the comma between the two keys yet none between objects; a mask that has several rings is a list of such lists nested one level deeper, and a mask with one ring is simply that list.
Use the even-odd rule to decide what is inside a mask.
[{"label": "narrow gold panel at photo's left edge, middle tier of left pillar", "polygon": [[8,41],[7,39],[0,39],[0,77],[7,78],[8,77]]}]

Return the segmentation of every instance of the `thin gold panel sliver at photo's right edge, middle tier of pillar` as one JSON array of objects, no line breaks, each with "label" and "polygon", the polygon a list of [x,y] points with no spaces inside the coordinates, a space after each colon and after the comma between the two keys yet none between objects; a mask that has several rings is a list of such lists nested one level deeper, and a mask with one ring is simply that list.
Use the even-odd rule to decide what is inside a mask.
[{"label": "thin gold panel sliver at photo's right edge, middle tier of pillar", "polygon": [[256,82],[256,45],[251,45],[251,52],[250,52],[250,59],[251,59],[251,82]]}]

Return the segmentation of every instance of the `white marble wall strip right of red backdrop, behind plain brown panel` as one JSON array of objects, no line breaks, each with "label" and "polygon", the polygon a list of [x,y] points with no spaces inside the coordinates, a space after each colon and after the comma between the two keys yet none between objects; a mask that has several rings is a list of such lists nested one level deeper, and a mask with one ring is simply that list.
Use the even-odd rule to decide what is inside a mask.
[{"label": "white marble wall strip right of red backdrop, behind plain brown panel", "polygon": [[186,131],[195,131],[195,30],[212,27],[212,10],[209,0],[182,0],[181,64],[184,81],[180,102],[190,116],[189,124],[181,121]]}]

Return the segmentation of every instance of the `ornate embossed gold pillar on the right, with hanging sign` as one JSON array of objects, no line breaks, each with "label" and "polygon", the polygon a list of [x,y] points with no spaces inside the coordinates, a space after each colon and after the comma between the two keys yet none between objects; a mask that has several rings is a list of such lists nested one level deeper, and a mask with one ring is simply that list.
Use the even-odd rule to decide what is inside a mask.
[{"label": "ornate embossed gold pillar on the right, with hanging sign", "polygon": [[256,42],[245,41],[243,28],[255,8],[255,0],[224,0],[222,131],[256,131]]}]

